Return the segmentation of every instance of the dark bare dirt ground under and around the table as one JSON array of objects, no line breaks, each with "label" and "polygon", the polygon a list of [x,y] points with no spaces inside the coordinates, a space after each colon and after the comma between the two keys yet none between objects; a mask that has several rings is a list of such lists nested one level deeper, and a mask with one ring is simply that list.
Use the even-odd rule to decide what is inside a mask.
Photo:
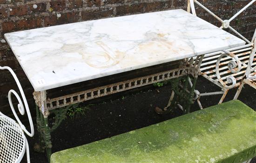
[{"label": "dark bare dirt ground under and around the table", "polygon": [[[141,88],[139,91],[122,92],[118,96],[109,96],[98,100],[97,104],[89,106],[84,116],[74,119],[67,117],[61,126],[52,133],[52,151],[56,152],[91,143],[182,115],[182,111],[179,110],[167,115],[157,115],[154,111],[156,106],[164,107],[167,104],[171,93],[170,88],[171,85],[159,88],[152,85]],[[202,77],[199,78],[196,89],[200,92],[220,91],[219,87]],[[235,92],[236,90],[231,90],[225,101],[231,100]],[[220,98],[221,95],[202,97],[202,106],[208,107],[217,104]],[[256,90],[253,88],[245,85],[239,99],[256,110]],[[82,105],[86,106],[88,103]],[[198,108],[197,103],[192,106],[193,111]],[[31,163],[47,163],[45,153],[33,150],[33,145],[37,140],[38,132],[35,126],[35,136],[28,137]],[[25,158],[26,156],[23,160]],[[251,163],[256,163],[256,158]]]}]

